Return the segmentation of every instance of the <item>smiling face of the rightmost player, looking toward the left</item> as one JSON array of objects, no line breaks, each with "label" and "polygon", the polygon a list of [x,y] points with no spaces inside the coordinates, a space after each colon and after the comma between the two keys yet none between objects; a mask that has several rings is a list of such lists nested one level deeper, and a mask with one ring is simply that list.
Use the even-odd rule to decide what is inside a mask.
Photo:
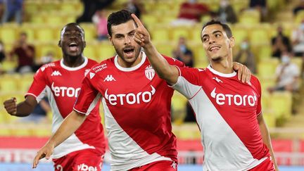
[{"label": "smiling face of the rightmost player, looking toward the left", "polygon": [[201,33],[203,48],[210,62],[232,58],[234,38],[227,37],[222,25],[208,25]]}]

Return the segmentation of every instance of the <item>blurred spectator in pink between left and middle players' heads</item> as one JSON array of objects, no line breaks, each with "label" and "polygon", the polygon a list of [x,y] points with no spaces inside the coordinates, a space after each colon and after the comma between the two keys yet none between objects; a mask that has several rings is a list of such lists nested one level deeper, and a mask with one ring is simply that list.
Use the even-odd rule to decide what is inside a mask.
[{"label": "blurred spectator in pink between left and middle players' heads", "polygon": [[97,39],[99,41],[108,40],[108,16],[105,10],[96,11],[93,16],[93,23],[96,25]]}]

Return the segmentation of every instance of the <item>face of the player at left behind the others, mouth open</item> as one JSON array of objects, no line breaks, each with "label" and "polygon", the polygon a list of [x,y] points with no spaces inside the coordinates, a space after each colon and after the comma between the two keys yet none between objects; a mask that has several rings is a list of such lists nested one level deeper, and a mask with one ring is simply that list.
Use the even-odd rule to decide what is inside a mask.
[{"label": "face of the player at left behind the others, mouth open", "polygon": [[78,25],[68,25],[63,28],[58,45],[65,56],[80,56],[86,45],[84,32]]}]

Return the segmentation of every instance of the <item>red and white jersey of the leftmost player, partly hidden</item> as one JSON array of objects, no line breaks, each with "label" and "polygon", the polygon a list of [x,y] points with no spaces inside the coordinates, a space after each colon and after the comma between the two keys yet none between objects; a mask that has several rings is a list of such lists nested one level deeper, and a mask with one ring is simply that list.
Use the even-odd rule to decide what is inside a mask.
[{"label": "red and white jersey of the leftmost player, partly hidden", "polygon": [[[43,65],[34,75],[34,81],[26,96],[35,96],[37,101],[47,95],[53,112],[52,132],[56,132],[63,119],[72,112],[80,92],[81,82],[96,61],[84,58],[77,68],[63,64],[63,60]],[[99,103],[92,108],[91,115],[84,120],[75,134],[63,141],[53,151],[53,158],[61,158],[72,151],[94,148],[105,152],[103,127],[99,115]]]}]

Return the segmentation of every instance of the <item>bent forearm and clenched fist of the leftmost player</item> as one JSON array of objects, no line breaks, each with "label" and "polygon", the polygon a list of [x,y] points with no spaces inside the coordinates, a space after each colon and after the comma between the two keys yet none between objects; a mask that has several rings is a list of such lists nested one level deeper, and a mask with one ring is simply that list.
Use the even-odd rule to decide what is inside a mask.
[{"label": "bent forearm and clenched fist of the leftmost player", "polygon": [[6,112],[10,115],[25,117],[30,115],[34,110],[34,107],[37,106],[37,101],[34,96],[27,96],[25,101],[17,103],[17,99],[13,97],[12,99],[8,99],[4,101],[4,108]]}]

